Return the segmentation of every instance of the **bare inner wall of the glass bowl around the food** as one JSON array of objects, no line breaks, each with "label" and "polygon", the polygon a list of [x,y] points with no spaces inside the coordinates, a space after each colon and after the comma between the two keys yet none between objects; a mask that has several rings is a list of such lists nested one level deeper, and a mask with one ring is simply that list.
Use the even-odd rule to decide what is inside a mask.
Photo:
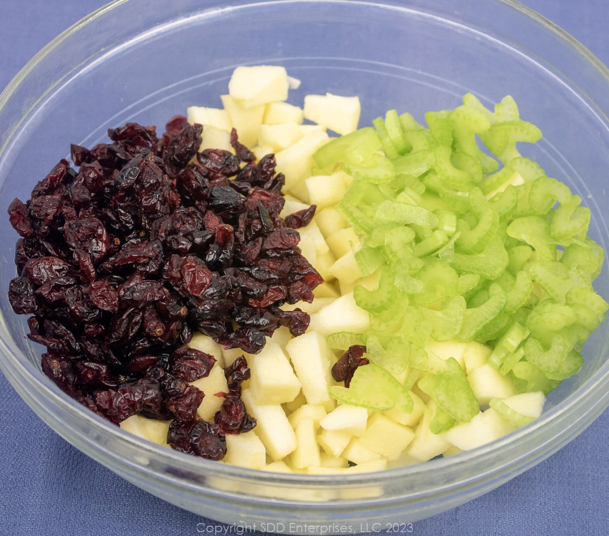
[{"label": "bare inner wall of the glass bowl around the food", "polygon": [[[468,92],[488,106],[512,95],[521,117],[544,133],[539,144],[521,147],[523,155],[582,197],[592,211],[591,238],[608,248],[609,129],[602,110],[609,107],[600,91],[609,94],[607,76],[585,52],[523,11],[473,0],[233,0],[217,9],[178,3],[149,13],[146,2],[114,2],[35,59],[27,79],[5,94],[5,208],[15,197],[28,199],[35,183],[69,156],[70,143],[93,146],[105,141],[108,128],[128,121],[163,132],[164,123],[189,105],[221,107],[219,96],[236,66],[284,65],[301,80],[290,102],[302,105],[309,93],[358,95],[361,125],[391,108],[422,122],[424,111],[453,108]],[[0,219],[4,289],[15,277],[16,238],[8,218]],[[605,298],[607,275],[605,263],[596,282]],[[2,359],[35,373],[42,348],[27,341],[26,319],[13,314],[5,292],[0,312],[1,337],[13,353]],[[603,325],[585,346],[582,371],[552,393],[548,407],[607,380],[608,344]]]}]

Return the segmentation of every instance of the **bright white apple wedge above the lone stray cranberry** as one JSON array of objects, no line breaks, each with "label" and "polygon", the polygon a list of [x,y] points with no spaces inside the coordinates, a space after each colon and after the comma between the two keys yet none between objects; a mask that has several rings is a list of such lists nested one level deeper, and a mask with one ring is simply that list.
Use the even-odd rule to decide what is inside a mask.
[{"label": "bright white apple wedge above the lone stray cranberry", "polygon": [[367,311],[357,306],[353,292],[350,292],[312,314],[309,329],[322,336],[339,331],[365,333],[370,329],[370,316]]}]

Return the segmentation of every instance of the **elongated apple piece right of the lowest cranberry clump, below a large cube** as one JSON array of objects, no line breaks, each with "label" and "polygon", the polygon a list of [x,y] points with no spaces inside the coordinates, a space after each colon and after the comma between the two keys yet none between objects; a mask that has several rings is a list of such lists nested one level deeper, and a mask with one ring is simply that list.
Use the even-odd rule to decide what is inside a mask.
[{"label": "elongated apple piece right of the lowest cranberry clump, below a large cube", "polygon": [[283,460],[296,448],[296,434],[280,404],[256,404],[249,389],[244,389],[241,399],[247,411],[256,418],[256,434],[274,460]]}]

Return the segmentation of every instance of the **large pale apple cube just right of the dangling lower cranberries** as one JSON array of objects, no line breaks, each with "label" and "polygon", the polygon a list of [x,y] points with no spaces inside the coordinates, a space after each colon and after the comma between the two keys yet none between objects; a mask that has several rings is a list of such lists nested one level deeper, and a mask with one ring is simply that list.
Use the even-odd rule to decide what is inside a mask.
[{"label": "large pale apple cube just right of the dangling lower cranberries", "polygon": [[300,381],[279,345],[267,342],[248,364],[250,392],[256,404],[291,402],[300,392]]}]

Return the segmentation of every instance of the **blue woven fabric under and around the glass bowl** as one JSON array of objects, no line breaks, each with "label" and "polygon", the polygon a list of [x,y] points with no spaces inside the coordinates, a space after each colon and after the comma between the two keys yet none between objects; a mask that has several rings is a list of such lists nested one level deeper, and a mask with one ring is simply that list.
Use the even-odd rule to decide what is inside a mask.
[{"label": "blue woven fabric under and around the glass bowl", "polygon": [[[524,3],[609,65],[607,0]],[[44,44],[102,4],[0,0],[0,88]],[[185,536],[214,534],[223,527],[139,490],[72,448],[30,411],[2,375],[0,437],[0,535]],[[608,444],[609,411],[550,459],[479,499],[414,523],[410,534],[605,536]]]}]

